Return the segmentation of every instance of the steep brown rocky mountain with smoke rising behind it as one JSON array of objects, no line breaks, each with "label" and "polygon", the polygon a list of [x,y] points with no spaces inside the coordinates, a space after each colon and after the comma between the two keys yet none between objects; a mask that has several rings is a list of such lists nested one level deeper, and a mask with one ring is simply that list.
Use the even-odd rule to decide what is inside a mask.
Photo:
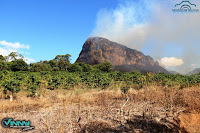
[{"label": "steep brown rocky mountain with smoke rising behind it", "polygon": [[115,70],[123,72],[138,70],[169,73],[160,67],[158,62],[154,62],[152,57],[101,37],[88,38],[76,60],[76,62],[85,62],[90,65],[105,61],[111,62]]}]

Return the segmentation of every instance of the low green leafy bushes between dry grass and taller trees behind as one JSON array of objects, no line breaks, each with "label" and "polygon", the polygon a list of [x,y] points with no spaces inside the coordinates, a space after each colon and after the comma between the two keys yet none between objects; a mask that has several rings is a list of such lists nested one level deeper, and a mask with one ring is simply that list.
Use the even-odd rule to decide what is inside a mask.
[{"label": "low green leafy bushes between dry grass and taller trees behind", "polygon": [[[82,64],[69,67],[70,71],[42,71],[42,72],[0,72],[0,85],[3,94],[15,94],[19,91],[27,91],[29,96],[34,96],[41,88],[50,90],[70,89],[76,86],[84,88],[106,89],[111,86],[119,86],[123,91],[129,88],[142,89],[145,86],[157,85],[170,88],[189,88],[200,86],[200,76],[168,75],[163,73],[152,74],[140,72],[112,72],[106,68],[109,63],[94,66],[95,70],[82,72]],[[85,65],[85,64],[84,64]],[[103,67],[105,67],[105,70]],[[104,72],[106,71],[106,72]],[[108,71],[108,72],[107,72]],[[110,72],[109,72],[110,71]]]}]

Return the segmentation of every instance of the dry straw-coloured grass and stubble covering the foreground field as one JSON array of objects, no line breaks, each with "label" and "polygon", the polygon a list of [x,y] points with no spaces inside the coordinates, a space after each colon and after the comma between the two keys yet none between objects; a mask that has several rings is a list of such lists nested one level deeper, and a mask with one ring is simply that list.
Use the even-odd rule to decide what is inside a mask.
[{"label": "dry straw-coloured grass and stubble covering the foreground field", "polygon": [[181,132],[187,128],[178,122],[181,112],[200,113],[200,88],[150,86],[127,94],[120,89],[41,89],[36,97],[26,95],[20,92],[13,102],[1,99],[0,118],[31,120],[36,129],[29,132],[37,133]]}]

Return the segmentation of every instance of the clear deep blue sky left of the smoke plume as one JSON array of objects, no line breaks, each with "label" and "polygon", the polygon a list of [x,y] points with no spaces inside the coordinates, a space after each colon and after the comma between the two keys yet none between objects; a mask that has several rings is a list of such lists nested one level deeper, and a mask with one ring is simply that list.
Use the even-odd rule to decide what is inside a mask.
[{"label": "clear deep blue sky left of the smoke plume", "polygon": [[[29,45],[35,61],[71,54],[72,62],[95,27],[97,12],[117,0],[0,0],[0,41]],[[0,53],[1,54],[1,53]]]}]

